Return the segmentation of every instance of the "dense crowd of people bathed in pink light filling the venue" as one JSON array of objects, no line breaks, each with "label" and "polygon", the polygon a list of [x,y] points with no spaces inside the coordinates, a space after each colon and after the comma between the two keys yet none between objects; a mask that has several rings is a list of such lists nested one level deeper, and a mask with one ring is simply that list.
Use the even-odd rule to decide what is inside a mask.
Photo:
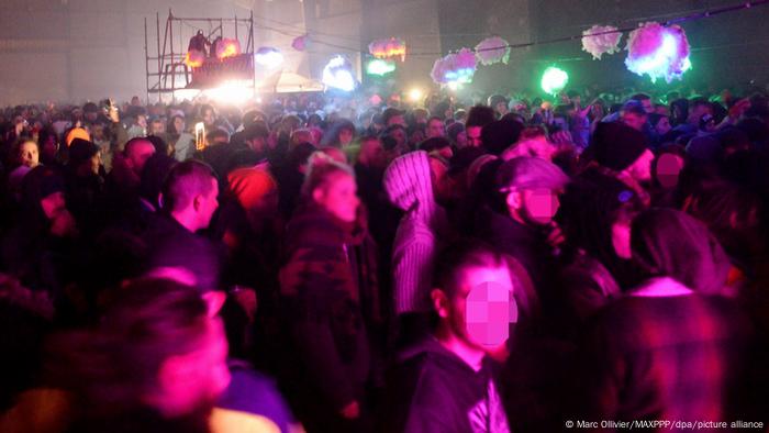
[{"label": "dense crowd of people bathed in pink light filling the venue", "polygon": [[554,99],[0,110],[0,431],[764,431],[769,96]]}]

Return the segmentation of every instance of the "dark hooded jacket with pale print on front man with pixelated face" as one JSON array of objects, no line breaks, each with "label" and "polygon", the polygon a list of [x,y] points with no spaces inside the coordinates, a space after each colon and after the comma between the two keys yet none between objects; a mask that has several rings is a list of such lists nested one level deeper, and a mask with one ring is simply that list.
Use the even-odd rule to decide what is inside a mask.
[{"label": "dark hooded jacket with pale print on front man with pixelated face", "polygon": [[379,431],[510,432],[488,357],[475,371],[430,336],[401,353],[390,374]]}]

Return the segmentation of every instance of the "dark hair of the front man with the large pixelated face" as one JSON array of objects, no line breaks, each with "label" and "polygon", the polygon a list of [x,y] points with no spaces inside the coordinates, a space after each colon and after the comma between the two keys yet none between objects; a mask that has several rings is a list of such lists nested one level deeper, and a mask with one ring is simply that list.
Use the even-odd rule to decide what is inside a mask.
[{"label": "dark hair of the front man with the large pixelated face", "polygon": [[473,240],[460,238],[446,245],[435,260],[433,287],[442,289],[449,298],[457,293],[461,273],[470,267],[504,266],[502,255],[491,245]]}]

